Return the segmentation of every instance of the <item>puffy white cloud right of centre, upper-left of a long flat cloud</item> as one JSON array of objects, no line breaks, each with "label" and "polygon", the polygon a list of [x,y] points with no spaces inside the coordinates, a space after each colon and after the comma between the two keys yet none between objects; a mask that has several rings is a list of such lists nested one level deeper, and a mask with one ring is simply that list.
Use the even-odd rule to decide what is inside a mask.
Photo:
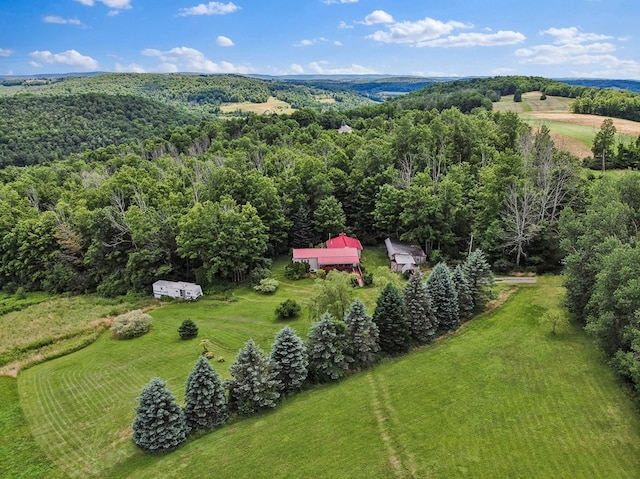
[{"label": "puffy white cloud right of centre, upper-left of a long flat cloud", "polygon": [[441,22],[426,17],[417,22],[397,22],[389,26],[386,31],[378,30],[366,38],[382,43],[419,44],[428,40],[435,40],[448,35],[456,28],[472,28],[473,25],[449,21]]}]

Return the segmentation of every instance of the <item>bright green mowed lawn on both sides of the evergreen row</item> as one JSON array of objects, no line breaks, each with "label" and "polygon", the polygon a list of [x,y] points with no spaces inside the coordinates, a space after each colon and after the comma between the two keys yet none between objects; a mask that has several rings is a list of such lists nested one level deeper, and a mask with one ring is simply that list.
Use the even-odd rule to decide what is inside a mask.
[{"label": "bright green mowed lawn on both sides of the evergreen row", "polygon": [[[436,344],[274,411],[191,439],[167,456],[132,444],[140,389],[158,375],[180,400],[198,340],[175,332],[188,308],[226,363],[253,336],[265,349],[282,327],[274,297],[237,290],[153,311],[153,331],[23,371],[20,400],[39,446],[72,477],[636,478],[640,415],[579,325],[552,335],[539,318],[562,300],[560,278],[519,286],[510,301]],[[278,297],[281,295],[281,297]],[[191,308],[191,306],[193,306]],[[291,323],[299,334],[306,318]]]}]

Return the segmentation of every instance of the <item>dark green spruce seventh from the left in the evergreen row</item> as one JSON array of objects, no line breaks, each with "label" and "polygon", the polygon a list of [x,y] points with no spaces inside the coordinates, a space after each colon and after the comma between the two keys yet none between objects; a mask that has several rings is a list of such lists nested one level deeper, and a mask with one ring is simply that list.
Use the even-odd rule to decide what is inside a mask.
[{"label": "dark green spruce seventh from the left in the evergreen row", "polygon": [[393,283],[387,285],[378,296],[373,321],[380,331],[380,350],[395,355],[409,351],[410,331],[402,296]]}]

